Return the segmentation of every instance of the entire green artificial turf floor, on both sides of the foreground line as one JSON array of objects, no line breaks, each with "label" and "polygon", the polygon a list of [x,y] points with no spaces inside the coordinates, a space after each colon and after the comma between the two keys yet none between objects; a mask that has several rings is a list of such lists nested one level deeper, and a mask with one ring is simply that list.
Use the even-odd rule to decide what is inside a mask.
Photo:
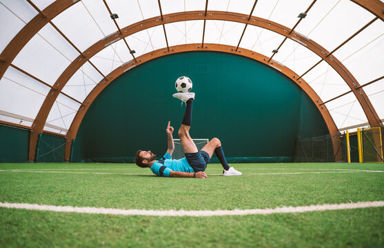
[{"label": "entire green artificial turf floor, on both sides of the foreground line", "polygon": [[[8,171],[0,172],[0,202],[214,210],[384,200],[384,173],[252,175],[384,171],[382,164],[233,166],[243,176],[214,176],[221,173],[221,165],[208,165],[208,178],[196,179],[160,178],[130,164],[1,164],[0,169]],[[384,207],[222,217],[105,216],[0,207],[0,244],[5,247],[383,247],[383,234]]]}]

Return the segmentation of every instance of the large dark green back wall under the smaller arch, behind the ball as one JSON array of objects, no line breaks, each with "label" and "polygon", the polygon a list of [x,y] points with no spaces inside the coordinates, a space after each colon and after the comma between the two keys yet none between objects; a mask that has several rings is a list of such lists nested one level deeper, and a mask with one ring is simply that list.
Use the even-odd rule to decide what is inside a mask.
[{"label": "large dark green back wall under the smaller arch, behind the ball", "polygon": [[162,155],[168,121],[178,138],[185,110],[172,97],[179,76],[194,83],[192,138],[220,138],[227,157],[292,161],[296,138],[327,134],[309,97],[273,68],[234,54],[188,52],[149,61],[105,87],[83,118],[72,161],[129,161],[137,149]]}]

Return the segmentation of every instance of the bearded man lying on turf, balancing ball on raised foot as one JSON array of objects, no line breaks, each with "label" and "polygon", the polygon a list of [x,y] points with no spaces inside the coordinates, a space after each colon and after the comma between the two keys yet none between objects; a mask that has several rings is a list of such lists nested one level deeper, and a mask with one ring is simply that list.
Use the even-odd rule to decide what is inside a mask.
[{"label": "bearded man lying on turf, balancing ball on raised foot", "polygon": [[210,163],[210,158],[212,158],[213,153],[215,153],[221,165],[223,165],[223,176],[240,176],[241,172],[236,171],[234,167],[230,167],[225,160],[219,138],[212,138],[200,151],[194,144],[189,132],[192,123],[194,93],[176,93],[173,96],[185,102],[187,106],[179,129],[179,138],[181,147],[183,147],[185,153],[185,158],[178,160],[172,159],[174,150],[172,132],[174,129],[170,126],[170,122],[168,122],[168,150],[165,155],[161,159],[156,160],[156,155],[151,151],[139,150],[134,158],[135,163],[139,165],[139,167],[150,167],[152,172],[157,176],[207,178],[207,174],[205,174],[204,171],[208,163]]}]

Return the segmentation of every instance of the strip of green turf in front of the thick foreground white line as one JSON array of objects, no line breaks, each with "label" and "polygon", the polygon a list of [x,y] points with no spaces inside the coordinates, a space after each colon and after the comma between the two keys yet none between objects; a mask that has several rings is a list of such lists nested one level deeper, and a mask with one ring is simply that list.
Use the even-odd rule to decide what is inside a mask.
[{"label": "strip of green turf in front of the thick foreground white line", "polygon": [[0,209],[3,247],[383,247],[384,208],[154,217]]}]

